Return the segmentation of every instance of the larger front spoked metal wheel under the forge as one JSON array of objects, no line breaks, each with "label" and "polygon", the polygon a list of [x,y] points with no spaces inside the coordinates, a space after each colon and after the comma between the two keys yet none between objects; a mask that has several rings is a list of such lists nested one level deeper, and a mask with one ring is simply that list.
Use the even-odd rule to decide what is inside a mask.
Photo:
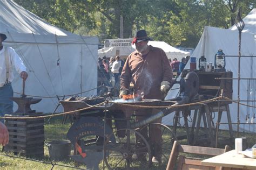
[{"label": "larger front spoked metal wheel under the forge", "polygon": [[[118,131],[125,131],[126,136],[120,138]],[[137,131],[120,129],[111,135],[116,143],[107,140],[105,145],[105,162],[109,169],[149,169],[151,165],[151,150],[146,139]],[[140,142],[136,142],[136,136]],[[110,136],[111,137],[111,136]]]}]

